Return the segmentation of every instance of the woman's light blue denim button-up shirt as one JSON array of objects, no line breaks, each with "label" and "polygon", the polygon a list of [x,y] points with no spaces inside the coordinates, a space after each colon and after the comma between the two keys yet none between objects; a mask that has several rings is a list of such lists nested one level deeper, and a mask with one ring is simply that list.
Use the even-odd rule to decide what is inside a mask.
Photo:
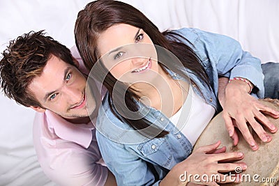
[{"label": "woman's light blue denim button-up shirt", "polygon": [[[263,75],[259,59],[244,52],[239,42],[227,36],[200,31],[199,29],[176,30],[193,44],[193,49],[209,75],[211,88],[193,73],[188,73],[200,88],[205,101],[216,111],[218,104],[218,75],[249,79],[257,88],[257,97],[264,96]],[[188,43],[185,40],[186,43]],[[169,71],[174,79],[181,79]],[[197,95],[202,96],[193,86]],[[103,160],[118,185],[158,185],[174,165],[185,160],[192,152],[190,141],[160,111],[141,106],[141,111],[154,125],[169,132],[163,138],[147,139],[140,132],[116,118],[109,107],[109,96],[103,99],[96,123],[96,138]]]}]

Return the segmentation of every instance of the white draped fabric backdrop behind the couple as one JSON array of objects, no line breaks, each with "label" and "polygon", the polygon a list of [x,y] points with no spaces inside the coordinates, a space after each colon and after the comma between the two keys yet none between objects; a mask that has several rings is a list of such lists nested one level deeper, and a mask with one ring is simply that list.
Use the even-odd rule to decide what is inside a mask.
[{"label": "white draped fabric backdrop behind the couple", "polygon": [[[183,26],[223,33],[267,61],[279,61],[279,1],[124,0],[142,10],[160,30]],[[79,10],[89,0],[0,0],[0,52],[8,41],[45,29],[68,47]],[[1,56],[0,56],[1,58]],[[32,145],[34,112],[0,94],[0,185],[55,185],[36,162]]]}]

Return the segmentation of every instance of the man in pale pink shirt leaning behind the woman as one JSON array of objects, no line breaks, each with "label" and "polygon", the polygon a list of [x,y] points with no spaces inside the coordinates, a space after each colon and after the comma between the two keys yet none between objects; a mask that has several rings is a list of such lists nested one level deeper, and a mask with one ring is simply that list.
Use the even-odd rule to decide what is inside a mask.
[{"label": "man in pale pink shirt leaning behind the woman", "polygon": [[116,185],[112,173],[101,164],[89,118],[98,114],[98,87],[91,81],[93,96],[85,93],[82,61],[44,35],[31,31],[10,42],[0,62],[3,93],[37,111],[33,142],[40,166],[51,180],[67,186]]}]

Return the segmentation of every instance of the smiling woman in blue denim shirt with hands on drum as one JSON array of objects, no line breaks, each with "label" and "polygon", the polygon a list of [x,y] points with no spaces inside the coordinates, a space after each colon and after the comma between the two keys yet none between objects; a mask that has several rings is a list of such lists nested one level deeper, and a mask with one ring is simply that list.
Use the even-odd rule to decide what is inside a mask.
[{"label": "smiling woman in blue denim shirt with hands on drum", "polygon": [[[224,153],[225,148],[218,149],[218,141],[191,154],[197,137],[220,110],[220,76],[232,79],[219,99],[234,143],[236,125],[257,150],[246,121],[262,141],[271,141],[254,117],[271,132],[277,130],[259,110],[274,117],[278,113],[250,95],[264,94],[260,61],[243,52],[231,38],[197,29],[160,33],[133,6],[94,1],[77,17],[75,40],[86,67],[93,68],[93,76],[108,90],[96,135],[118,185],[185,185],[188,181],[217,185],[236,181],[225,179],[221,173],[234,171],[237,166],[246,169],[246,164],[221,162],[241,160],[242,153]],[[237,115],[239,102],[252,106],[247,117]],[[234,125],[232,118],[236,119]],[[188,175],[218,175],[219,179],[192,178],[183,183],[179,178],[186,176],[185,171]]]}]

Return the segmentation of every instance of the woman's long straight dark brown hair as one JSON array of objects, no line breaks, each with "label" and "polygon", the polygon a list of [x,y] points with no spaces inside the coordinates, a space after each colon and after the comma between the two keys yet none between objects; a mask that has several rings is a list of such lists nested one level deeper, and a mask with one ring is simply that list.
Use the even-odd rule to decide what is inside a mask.
[{"label": "woman's long straight dark brown hair", "polygon": [[[191,70],[199,79],[202,79],[202,82],[205,82],[209,86],[208,76],[199,58],[191,47],[181,42],[181,40],[186,40],[186,38],[172,31],[160,33],[158,28],[140,10],[120,1],[93,1],[87,4],[84,10],[81,10],[77,15],[75,22],[75,42],[82,56],[82,60],[89,70],[100,59],[100,54],[97,49],[98,36],[114,24],[129,24],[143,29],[151,38],[154,45],[158,45],[172,52],[185,68]],[[158,56],[158,62],[159,65],[163,65],[160,63],[160,56]],[[185,72],[172,63],[169,63],[167,68],[178,73],[181,77],[186,77]],[[140,119],[135,120],[129,119],[139,118],[140,115],[137,99],[135,100],[135,98],[138,98],[137,93],[133,89],[128,88],[126,84],[117,82],[117,79],[110,72],[106,72],[104,67],[98,67],[98,72],[98,75],[95,75],[95,78],[98,80],[101,80],[102,75],[100,73],[103,72],[103,75],[105,75],[105,79],[102,82],[110,93],[110,108],[117,118],[128,123],[135,130],[142,130],[142,134],[146,137],[164,137],[169,133],[152,125],[145,117],[140,117]],[[116,82],[119,88],[117,91],[114,90]],[[114,91],[113,97],[112,91]],[[123,91],[125,91],[124,94]],[[123,95],[125,102],[123,102]],[[130,111],[133,111],[134,116],[129,116],[128,118],[121,116],[115,110],[116,106],[118,106],[117,108],[128,107]],[[146,127],[149,127],[149,130],[144,130]]]}]

